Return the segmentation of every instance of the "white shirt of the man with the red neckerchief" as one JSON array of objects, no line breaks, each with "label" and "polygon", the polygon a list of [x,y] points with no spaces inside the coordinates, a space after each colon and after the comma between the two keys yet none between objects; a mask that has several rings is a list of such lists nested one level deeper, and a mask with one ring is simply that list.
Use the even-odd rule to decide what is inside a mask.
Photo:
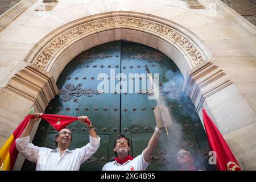
[{"label": "white shirt of the man with the red neckerchief", "polygon": [[141,155],[138,155],[133,160],[127,160],[127,162],[122,165],[115,160],[113,162],[106,163],[102,168],[102,171],[146,171],[149,164],[150,162],[146,162],[142,152]]}]

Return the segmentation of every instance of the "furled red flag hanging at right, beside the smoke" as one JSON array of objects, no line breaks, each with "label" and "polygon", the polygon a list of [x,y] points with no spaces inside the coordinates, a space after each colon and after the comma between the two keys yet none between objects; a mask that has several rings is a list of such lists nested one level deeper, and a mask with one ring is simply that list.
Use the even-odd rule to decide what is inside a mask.
[{"label": "furled red flag hanging at right, beside the smoke", "polygon": [[220,131],[218,131],[217,127],[214,125],[212,119],[210,119],[204,108],[203,120],[210,149],[216,152],[217,169],[219,171],[240,171],[241,168],[236,158],[232,154],[228,144],[226,144]]}]

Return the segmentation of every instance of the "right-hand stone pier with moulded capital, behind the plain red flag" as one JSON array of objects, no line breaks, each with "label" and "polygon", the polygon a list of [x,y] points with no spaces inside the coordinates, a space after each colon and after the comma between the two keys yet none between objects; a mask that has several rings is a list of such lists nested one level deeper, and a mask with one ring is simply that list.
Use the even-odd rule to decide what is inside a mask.
[{"label": "right-hand stone pier with moulded capital, behind the plain red flag", "polygon": [[196,106],[203,123],[201,102],[228,143],[243,170],[256,167],[255,113],[241,93],[217,66],[205,62],[188,71],[183,90]]}]

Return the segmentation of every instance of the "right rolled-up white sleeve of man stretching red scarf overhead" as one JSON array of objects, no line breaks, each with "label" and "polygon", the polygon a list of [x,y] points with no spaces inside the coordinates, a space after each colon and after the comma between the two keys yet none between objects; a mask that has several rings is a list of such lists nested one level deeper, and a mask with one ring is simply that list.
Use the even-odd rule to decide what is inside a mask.
[{"label": "right rolled-up white sleeve of man stretching red scarf overhead", "polygon": [[82,163],[85,162],[85,160],[89,159],[90,156],[92,156],[100,146],[100,137],[97,136],[97,138],[90,137],[90,143],[86,144],[86,146],[79,148],[79,160]]}]

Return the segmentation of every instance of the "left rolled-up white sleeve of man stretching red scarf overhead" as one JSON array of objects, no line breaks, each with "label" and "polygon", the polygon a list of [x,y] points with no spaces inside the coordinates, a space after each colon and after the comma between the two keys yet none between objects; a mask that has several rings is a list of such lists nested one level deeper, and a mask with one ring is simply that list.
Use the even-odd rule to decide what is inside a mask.
[{"label": "left rolled-up white sleeve of man stretching red scarf overhead", "polygon": [[36,163],[38,160],[39,147],[34,146],[34,144],[29,143],[29,141],[30,136],[16,139],[16,149],[24,158]]}]

